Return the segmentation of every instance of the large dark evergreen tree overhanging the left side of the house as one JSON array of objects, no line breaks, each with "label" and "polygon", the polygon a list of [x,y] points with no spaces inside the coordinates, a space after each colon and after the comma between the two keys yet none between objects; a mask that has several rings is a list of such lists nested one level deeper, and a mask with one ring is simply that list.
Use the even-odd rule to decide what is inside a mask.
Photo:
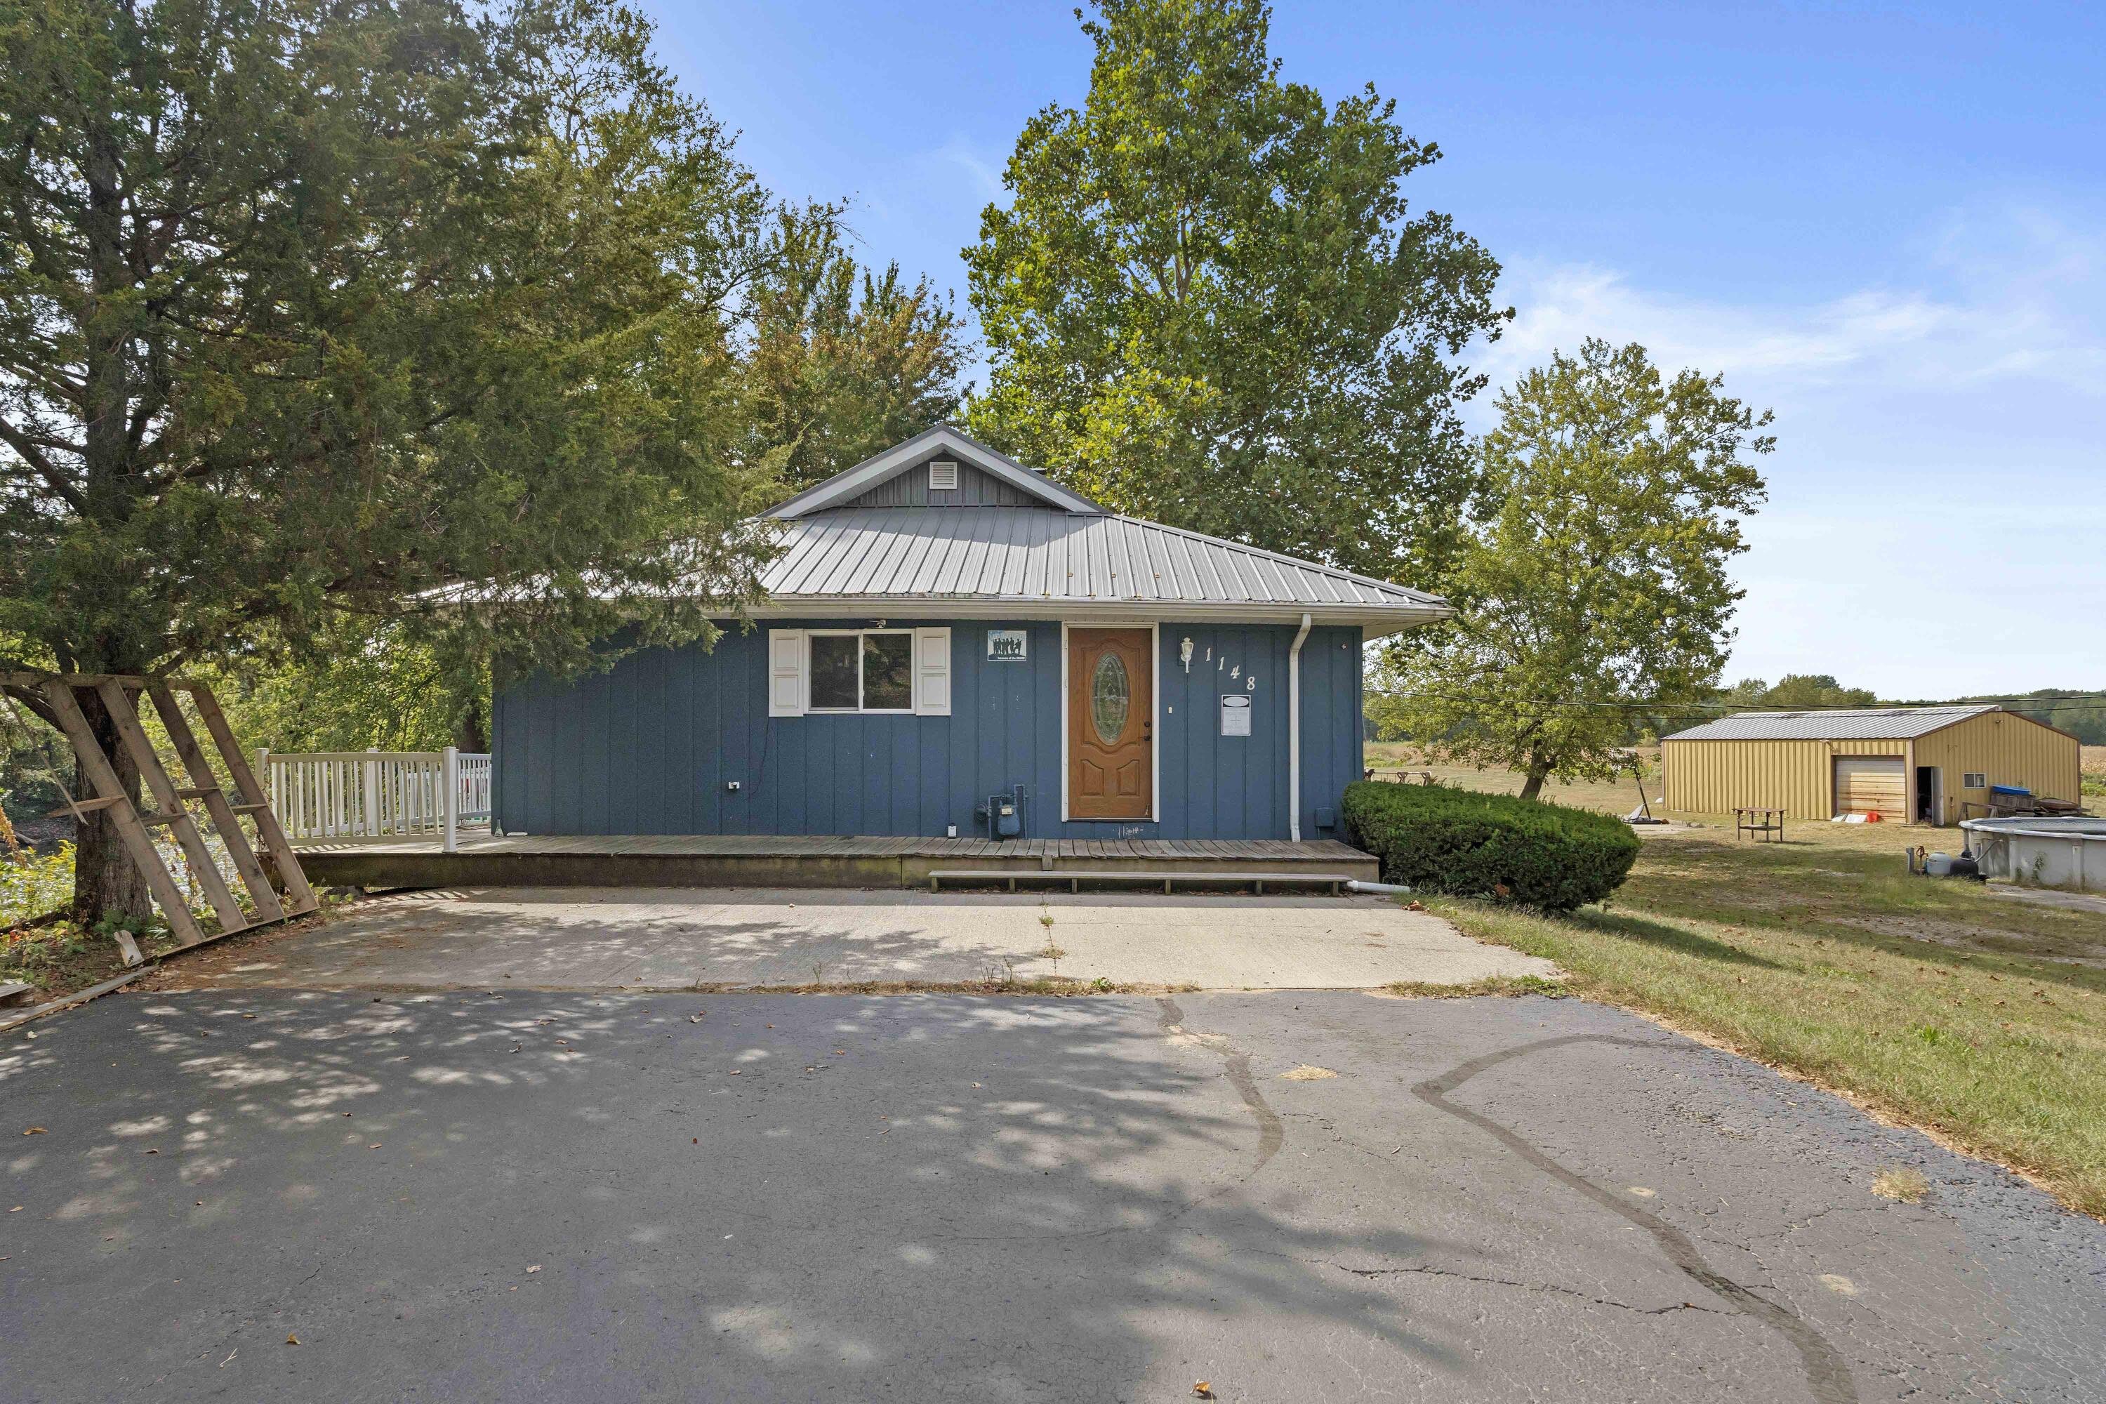
[{"label": "large dark evergreen tree overhanging the left side of the house", "polygon": [[[0,44],[21,661],[394,619],[463,674],[573,669],[752,594],[731,309],[771,202],[634,13],[0,0]],[[147,909],[99,815],[76,907]]]}]

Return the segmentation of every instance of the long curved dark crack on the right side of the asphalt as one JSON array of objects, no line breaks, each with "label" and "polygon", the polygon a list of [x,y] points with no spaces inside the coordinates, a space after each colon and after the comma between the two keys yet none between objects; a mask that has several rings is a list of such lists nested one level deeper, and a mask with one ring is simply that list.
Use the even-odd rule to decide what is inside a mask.
[{"label": "long curved dark crack on the right side of the asphalt", "polygon": [[1508,1126],[1502,1126],[1499,1122],[1491,1120],[1489,1116],[1483,1116],[1481,1111],[1472,1111],[1470,1107],[1457,1105],[1447,1097],[1464,1082],[1468,1082],[1470,1078],[1478,1076],[1489,1067],[1497,1067],[1499,1063],[1525,1057],[1529,1052],[1563,1048],[1565,1044],[1624,1044],[1630,1048],[1653,1048],[1653,1050],[1664,1046],[1660,1040],[1651,1038],[1617,1038],[1611,1034],[1567,1034],[1563,1038],[1539,1038],[1529,1044],[1470,1059],[1468,1063],[1451,1067],[1438,1078],[1428,1078],[1426,1082],[1419,1082],[1417,1086],[1411,1088],[1411,1095],[1436,1111],[1447,1111],[1449,1116],[1476,1126],[1478,1130],[1483,1130],[1499,1145],[1527,1160],[1544,1175],[1550,1175],[1552,1179],[1569,1185],[1571,1189],[1577,1189],[1580,1194],[1594,1200],[1603,1208],[1628,1219],[1636,1227],[1651,1233],[1653,1242],[1660,1244],[1660,1250],[1666,1252],[1668,1261],[1681,1267],[1683,1273],[1687,1273],[1691,1280],[1695,1280],[1723,1301],[1731,1303],[1737,1311],[1752,1316],[1763,1324],[1775,1328],[1786,1341],[1790,1341],[1799,1349],[1799,1358],[1805,1364],[1807,1372],[1807,1387],[1813,1391],[1813,1398],[1820,1404],[1855,1404],[1857,1385],[1851,1379],[1849,1364],[1845,1364],[1836,1347],[1828,1343],[1828,1337],[1815,1330],[1813,1324],[1807,1322],[1807,1318],[1714,1271],[1710,1263],[1704,1261],[1704,1255],[1697,1252],[1697,1246],[1689,1240],[1689,1236],[1670,1225],[1666,1219],[1649,1215],[1636,1204],[1628,1204],[1622,1196],[1611,1194],[1601,1185],[1594,1185],[1592,1181],[1567,1170],[1556,1160],[1535,1149],[1518,1132],[1510,1130]]}]

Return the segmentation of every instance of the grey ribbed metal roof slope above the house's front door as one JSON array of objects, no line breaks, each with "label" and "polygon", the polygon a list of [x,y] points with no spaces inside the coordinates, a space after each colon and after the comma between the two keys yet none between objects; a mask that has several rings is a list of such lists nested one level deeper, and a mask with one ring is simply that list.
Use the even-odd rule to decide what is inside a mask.
[{"label": "grey ribbed metal roof slope above the house's front door", "polygon": [[1394,627],[1453,613],[1417,589],[1112,514],[834,507],[775,526],[783,554],[760,577],[771,613],[1000,602],[1005,613],[1177,606]]}]

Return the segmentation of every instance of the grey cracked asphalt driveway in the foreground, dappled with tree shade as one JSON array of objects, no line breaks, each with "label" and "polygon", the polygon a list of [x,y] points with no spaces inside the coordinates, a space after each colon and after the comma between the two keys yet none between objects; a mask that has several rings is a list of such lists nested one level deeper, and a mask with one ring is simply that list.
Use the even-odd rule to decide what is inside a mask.
[{"label": "grey cracked asphalt driveway in the foreground, dappled with tree shade", "polygon": [[0,1038],[6,1400],[2106,1379],[2106,1227],[1573,1000],[249,989],[36,1031]]}]

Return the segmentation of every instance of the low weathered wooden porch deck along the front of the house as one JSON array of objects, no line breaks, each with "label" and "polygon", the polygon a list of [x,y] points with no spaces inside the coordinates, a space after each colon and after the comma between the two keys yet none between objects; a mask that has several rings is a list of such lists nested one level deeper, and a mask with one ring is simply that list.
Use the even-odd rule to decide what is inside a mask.
[{"label": "low weathered wooden porch deck along the front of the house", "polygon": [[438,842],[301,844],[333,886],[927,886],[958,871],[1325,871],[1373,880],[1373,857],[1337,840],[1285,838],[885,838],[764,834],[505,834]]}]

